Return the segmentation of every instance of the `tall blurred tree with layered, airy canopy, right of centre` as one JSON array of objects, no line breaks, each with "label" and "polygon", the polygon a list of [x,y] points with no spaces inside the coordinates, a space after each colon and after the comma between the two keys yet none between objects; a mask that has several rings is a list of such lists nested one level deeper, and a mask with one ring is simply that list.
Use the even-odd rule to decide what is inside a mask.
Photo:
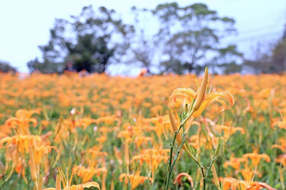
[{"label": "tall blurred tree with layered, airy canopy, right of centre", "polygon": [[[152,13],[160,21],[155,39],[163,49],[162,57],[165,60],[162,60],[161,66],[165,71],[199,71],[205,64],[210,64],[223,55],[242,56],[235,45],[219,48],[220,40],[235,32],[235,21],[219,17],[216,11],[209,10],[205,4],[179,7],[177,3],[166,3],[158,5]],[[233,59],[229,62],[233,62]]]}]

